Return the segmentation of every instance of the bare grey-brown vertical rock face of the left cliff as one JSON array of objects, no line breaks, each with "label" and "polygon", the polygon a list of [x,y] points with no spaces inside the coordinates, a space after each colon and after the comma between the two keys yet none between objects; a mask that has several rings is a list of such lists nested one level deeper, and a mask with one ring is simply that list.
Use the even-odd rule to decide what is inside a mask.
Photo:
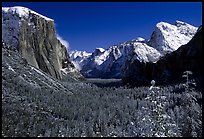
[{"label": "bare grey-brown vertical rock face of the left cliff", "polygon": [[33,32],[28,25],[30,21],[23,21],[20,28],[19,52],[28,63],[40,68],[57,79],[61,79],[60,69],[68,61],[68,54],[55,35],[54,22],[38,18],[34,14],[31,19],[37,29]]}]

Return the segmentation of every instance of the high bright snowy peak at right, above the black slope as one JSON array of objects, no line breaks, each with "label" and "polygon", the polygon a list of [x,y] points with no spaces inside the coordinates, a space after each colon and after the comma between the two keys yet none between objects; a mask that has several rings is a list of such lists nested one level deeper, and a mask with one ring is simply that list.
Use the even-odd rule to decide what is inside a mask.
[{"label": "high bright snowy peak at right, above the black slope", "polygon": [[178,20],[175,25],[159,22],[148,44],[156,48],[162,54],[166,54],[188,43],[196,31],[197,27]]}]

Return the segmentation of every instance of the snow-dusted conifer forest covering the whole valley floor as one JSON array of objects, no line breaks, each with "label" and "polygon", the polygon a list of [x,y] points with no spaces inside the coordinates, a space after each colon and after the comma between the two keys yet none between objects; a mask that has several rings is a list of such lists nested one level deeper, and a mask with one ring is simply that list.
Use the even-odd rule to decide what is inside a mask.
[{"label": "snow-dusted conifer forest covering the whole valley floor", "polygon": [[200,91],[182,84],[151,90],[106,86],[117,83],[120,80],[63,82],[72,92],[67,94],[46,89],[8,93],[3,82],[2,135],[202,136]]}]

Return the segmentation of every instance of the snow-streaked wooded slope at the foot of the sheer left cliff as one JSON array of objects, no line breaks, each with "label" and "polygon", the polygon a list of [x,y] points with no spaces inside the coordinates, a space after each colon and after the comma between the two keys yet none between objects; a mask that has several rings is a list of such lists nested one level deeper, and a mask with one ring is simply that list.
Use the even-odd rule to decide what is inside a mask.
[{"label": "snow-streaked wooded slope at the foot of the sheer left cliff", "polygon": [[28,91],[72,94],[60,80],[28,64],[17,50],[2,44],[2,94],[6,96]]}]

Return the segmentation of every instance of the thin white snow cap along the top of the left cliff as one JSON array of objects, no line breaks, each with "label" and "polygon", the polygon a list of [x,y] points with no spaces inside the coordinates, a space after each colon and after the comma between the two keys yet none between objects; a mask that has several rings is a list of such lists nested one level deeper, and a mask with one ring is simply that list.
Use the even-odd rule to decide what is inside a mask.
[{"label": "thin white snow cap along the top of the left cliff", "polygon": [[46,16],[43,16],[37,12],[34,12],[26,7],[22,6],[14,6],[14,7],[2,7],[3,13],[11,13],[11,14],[17,14],[19,17],[29,18],[29,14],[35,14],[41,18],[44,18],[47,21],[54,21],[53,19],[50,19]]}]

